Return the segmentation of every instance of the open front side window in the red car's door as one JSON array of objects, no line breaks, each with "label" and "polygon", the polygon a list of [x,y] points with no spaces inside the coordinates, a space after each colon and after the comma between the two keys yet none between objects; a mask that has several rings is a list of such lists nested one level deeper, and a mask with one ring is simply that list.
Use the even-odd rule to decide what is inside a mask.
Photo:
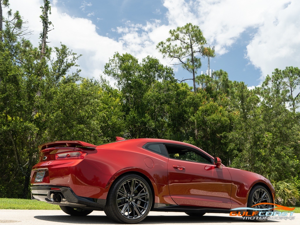
[{"label": "open front side window in the red car's door", "polygon": [[167,152],[169,153],[169,157],[173,159],[180,159],[185,161],[193,161],[198,163],[208,163],[213,164],[213,161],[210,157],[203,154],[202,152],[197,151],[196,149],[192,149],[185,146],[179,145],[169,145],[166,144]]}]

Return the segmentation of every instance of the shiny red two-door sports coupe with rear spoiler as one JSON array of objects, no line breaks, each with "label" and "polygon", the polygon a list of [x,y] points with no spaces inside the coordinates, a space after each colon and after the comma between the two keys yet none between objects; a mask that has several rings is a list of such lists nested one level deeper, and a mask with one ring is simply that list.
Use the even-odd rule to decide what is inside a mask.
[{"label": "shiny red two-door sports coupe with rear spoiler", "polygon": [[32,198],[59,205],[73,216],[104,210],[120,223],[138,223],[150,210],[202,216],[274,203],[268,179],[225,167],[196,146],[116,139],[99,146],[82,141],[39,146],[39,163],[31,173]]}]

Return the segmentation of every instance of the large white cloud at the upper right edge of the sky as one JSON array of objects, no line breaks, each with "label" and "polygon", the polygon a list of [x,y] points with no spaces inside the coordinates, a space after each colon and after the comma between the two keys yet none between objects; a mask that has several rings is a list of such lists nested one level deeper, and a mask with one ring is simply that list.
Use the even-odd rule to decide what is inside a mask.
[{"label": "large white cloud at the upper right edge of the sky", "polygon": [[247,57],[263,76],[271,75],[275,68],[300,66],[299,10],[300,2],[292,1],[265,19],[247,46]]}]

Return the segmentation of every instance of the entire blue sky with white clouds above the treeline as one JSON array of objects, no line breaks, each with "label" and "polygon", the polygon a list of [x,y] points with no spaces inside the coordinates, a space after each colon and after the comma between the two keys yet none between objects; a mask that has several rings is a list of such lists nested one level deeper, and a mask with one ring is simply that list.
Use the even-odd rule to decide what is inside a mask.
[{"label": "entire blue sky with white clouds above the treeline", "polygon": [[[11,0],[34,31],[38,43],[42,0]],[[26,2],[26,1],[25,1]],[[170,29],[187,22],[198,25],[208,45],[215,46],[216,57],[210,68],[225,70],[229,79],[259,85],[275,68],[299,67],[300,24],[297,0],[52,0],[49,45],[66,44],[82,54],[82,76],[97,78],[113,53],[129,52],[141,60],[147,55],[164,59],[155,49],[168,37]],[[179,66],[173,66],[176,78],[190,78]],[[202,67],[207,69],[207,58]],[[112,81],[113,82],[113,81]],[[189,82],[189,85],[191,83]]]}]

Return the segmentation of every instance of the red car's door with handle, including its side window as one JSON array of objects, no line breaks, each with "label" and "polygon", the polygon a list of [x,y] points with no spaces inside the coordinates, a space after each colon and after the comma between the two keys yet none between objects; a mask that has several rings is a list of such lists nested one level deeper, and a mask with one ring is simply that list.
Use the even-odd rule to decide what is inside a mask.
[{"label": "red car's door with handle, including its side window", "polygon": [[231,208],[232,179],[226,167],[198,149],[165,144],[170,196],[178,205]]}]

